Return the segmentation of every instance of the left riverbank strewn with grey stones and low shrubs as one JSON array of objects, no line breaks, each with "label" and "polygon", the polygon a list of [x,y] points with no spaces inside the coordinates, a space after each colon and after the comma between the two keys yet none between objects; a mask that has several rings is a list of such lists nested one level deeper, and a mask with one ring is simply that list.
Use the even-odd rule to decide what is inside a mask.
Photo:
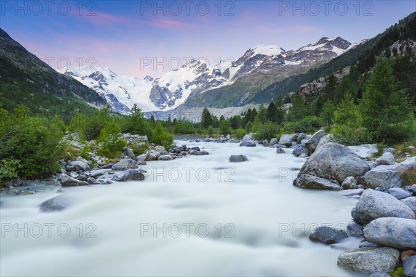
[{"label": "left riverbank strewn with grey stones and low shrubs", "polygon": [[[98,154],[94,141],[81,141],[77,134],[69,134],[64,138],[64,142],[69,145],[69,158],[60,161],[59,175],[43,180],[15,179],[9,181],[8,186],[2,188],[1,192],[10,195],[31,195],[42,185],[69,187],[112,184],[114,181],[140,181],[146,173],[140,166],[146,166],[148,161],[173,161],[191,155],[209,154],[199,147],[172,145],[170,148],[164,148],[161,145],[149,144],[147,136],[123,134],[123,140],[127,146],[120,157],[108,159]],[[134,148],[144,151],[144,154],[135,153]],[[73,153],[83,153],[84,157]]]}]

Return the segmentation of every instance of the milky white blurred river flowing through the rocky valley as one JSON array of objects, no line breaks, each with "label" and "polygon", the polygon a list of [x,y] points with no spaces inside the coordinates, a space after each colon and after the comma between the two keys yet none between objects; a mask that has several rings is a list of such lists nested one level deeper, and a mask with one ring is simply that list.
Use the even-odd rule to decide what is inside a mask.
[{"label": "milky white blurred river flowing through the rocky valley", "polygon": [[[71,206],[42,213],[38,205],[59,195],[58,187],[35,195],[1,196],[1,276],[352,276],[336,265],[338,255],[358,244],[347,239],[338,247],[309,241],[310,224],[347,224],[356,200],[335,192],[302,190],[292,186],[285,168],[300,168],[305,159],[276,154],[275,149],[240,148],[234,143],[187,143],[210,155],[175,161],[148,162],[148,168],[178,168],[170,179],[154,175],[143,182],[67,188]],[[231,154],[249,161],[229,163]],[[184,168],[193,168],[187,180]],[[196,178],[196,170],[200,169]],[[205,168],[209,180],[205,179]],[[218,180],[216,168],[222,172]],[[154,171],[154,170],[153,170]],[[162,174],[161,174],[162,175]],[[293,174],[295,175],[295,174]],[[166,175],[165,175],[166,176]],[[227,182],[225,179],[229,177]],[[28,224],[25,228],[24,224]],[[51,226],[48,236],[48,223]],[[94,225],[88,225],[92,223]],[[142,233],[157,224],[159,231]],[[190,226],[189,236],[183,224]],[[225,226],[225,224],[229,224]],[[63,238],[67,229],[71,232]],[[83,224],[80,228],[79,224]],[[150,224],[150,225],[147,225]],[[177,225],[182,226],[178,235]],[[206,224],[196,231],[198,224]],[[218,234],[221,224],[221,233]],[[10,226],[26,229],[6,232]],[[41,226],[42,235],[35,238]],[[78,228],[77,228],[78,226]],[[87,231],[96,229],[87,238]],[[168,227],[171,226],[171,229]],[[205,237],[206,229],[209,233]],[[234,226],[234,230],[232,230]],[[80,235],[80,229],[83,229]],[[279,233],[280,230],[280,233]],[[225,233],[234,235],[226,238]],[[91,235],[91,234],[90,234]],[[80,238],[81,237],[81,238]],[[337,245],[337,244],[336,244]]]}]

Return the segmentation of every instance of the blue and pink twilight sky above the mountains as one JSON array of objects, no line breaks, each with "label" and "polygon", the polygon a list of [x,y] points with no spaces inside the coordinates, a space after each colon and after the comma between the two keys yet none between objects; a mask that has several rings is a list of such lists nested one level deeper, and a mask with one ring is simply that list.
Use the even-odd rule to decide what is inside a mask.
[{"label": "blue and pink twilight sky above the mountains", "polygon": [[55,69],[108,67],[157,77],[187,60],[237,60],[259,44],[286,51],[321,37],[359,42],[416,1],[1,1],[0,27]]}]

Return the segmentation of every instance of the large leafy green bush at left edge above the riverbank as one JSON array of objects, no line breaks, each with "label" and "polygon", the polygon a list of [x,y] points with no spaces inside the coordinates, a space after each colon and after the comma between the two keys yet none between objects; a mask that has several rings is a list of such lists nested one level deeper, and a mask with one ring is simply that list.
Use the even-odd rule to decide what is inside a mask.
[{"label": "large leafy green bush at left edge above the riverbank", "polygon": [[19,161],[20,165],[3,162],[3,170],[27,178],[47,177],[59,170],[64,153],[62,126],[53,118],[29,116],[24,106],[12,114],[1,111],[1,117],[0,160]]}]

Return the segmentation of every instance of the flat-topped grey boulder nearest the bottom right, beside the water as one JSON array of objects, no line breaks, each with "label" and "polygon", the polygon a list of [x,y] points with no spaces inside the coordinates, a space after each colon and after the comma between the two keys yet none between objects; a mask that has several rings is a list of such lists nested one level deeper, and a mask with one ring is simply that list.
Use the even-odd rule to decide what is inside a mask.
[{"label": "flat-topped grey boulder nearest the bottom right, beside the water", "polygon": [[338,266],[345,269],[372,272],[391,272],[399,262],[399,250],[390,247],[363,247],[341,253]]}]

